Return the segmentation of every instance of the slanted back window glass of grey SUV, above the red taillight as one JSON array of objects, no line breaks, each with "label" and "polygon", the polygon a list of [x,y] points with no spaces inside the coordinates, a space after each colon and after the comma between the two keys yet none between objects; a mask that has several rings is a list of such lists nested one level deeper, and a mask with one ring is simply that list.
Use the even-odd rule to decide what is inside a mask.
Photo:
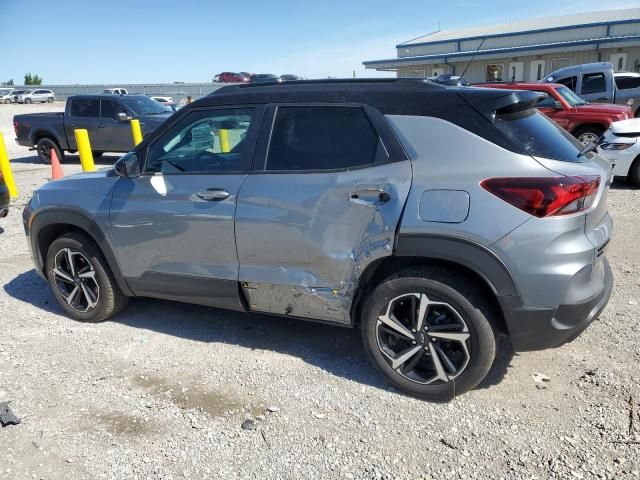
[{"label": "slanted back window glass of grey SUV, above the red taillight", "polygon": [[537,110],[498,113],[494,124],[518,153],[564,162],[582,161],[582,145]]}]

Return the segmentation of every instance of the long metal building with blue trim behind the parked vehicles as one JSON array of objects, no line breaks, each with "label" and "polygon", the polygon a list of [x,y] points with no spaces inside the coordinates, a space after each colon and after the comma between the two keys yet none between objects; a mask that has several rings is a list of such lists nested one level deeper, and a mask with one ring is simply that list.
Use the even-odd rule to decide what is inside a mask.
[{"label": "long metal building with blue trim behind the parked vehicles", "polygon": [[640,8],[438,31],[396,45],[398,57],[363,62],[401,77],[465,73],[470,82],[541,79],[558,68],[610,61],[640,71]]}]

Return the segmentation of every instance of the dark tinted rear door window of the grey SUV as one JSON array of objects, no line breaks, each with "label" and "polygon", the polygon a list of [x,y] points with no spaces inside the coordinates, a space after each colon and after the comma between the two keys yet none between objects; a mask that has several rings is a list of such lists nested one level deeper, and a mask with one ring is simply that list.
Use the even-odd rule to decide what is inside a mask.
[{"label": "dark tinted rear door window of the grey SUV", "polygon": [[267,170],[332,170],[372,164],[378,135],[359,107],[278,107]]}]

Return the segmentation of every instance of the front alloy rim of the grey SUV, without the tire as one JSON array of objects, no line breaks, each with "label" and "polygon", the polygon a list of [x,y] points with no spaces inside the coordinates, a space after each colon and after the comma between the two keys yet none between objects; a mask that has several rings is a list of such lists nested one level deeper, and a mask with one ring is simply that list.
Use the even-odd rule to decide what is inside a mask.
[{"label": "front alloy rim of the grey SUV, without the tire", "polygon": [[82,253],[63,248],[55,256],[51,273],[58,293],[71,308],[87,313],[98,306],[100,287],[96,271]]}]

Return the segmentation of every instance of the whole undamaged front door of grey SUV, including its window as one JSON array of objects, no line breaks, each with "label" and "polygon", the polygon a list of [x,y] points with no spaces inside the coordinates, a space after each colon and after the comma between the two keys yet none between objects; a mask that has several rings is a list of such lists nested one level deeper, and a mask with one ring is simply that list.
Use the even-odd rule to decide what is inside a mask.
[{"label": "whole undamaged front door of grey SUV, including its window", "polygon": [[240,309],[234,213],[261,109],[199,109],[151,143],[142,176],[120,179],[110,235],[137,295]]}]

